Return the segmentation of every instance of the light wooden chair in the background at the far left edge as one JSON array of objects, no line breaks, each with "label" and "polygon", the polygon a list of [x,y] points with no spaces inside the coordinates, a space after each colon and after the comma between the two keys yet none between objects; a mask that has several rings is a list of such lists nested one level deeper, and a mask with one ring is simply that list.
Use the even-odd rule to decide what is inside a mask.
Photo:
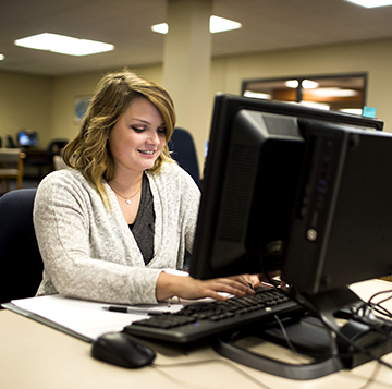
[{"label": "light wooden chair in the background at the far left edge", "polygon": [[23,184],[24,153],[20,148],[0,148],[1,192],[10,190],[9,180],[16,180],[20,190]]}]

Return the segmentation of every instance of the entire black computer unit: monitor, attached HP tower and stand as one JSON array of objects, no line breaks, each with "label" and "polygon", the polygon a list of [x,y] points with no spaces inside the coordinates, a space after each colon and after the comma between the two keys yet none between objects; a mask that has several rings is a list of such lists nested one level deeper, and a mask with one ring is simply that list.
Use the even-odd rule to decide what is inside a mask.
[{"label": "entire black computer unit: monitor, attached HP tower and stand", "polygon": [[[382,127],[372,118],[217,95],[189,273],[281,270],[304,316],[318,317],[310,332],[307,316],[296,323],[294,313],[290,333],[314,353],[324,337],[331,357],[305,369],[271,368],[271,360],[234,348],[231,335],[217,342],[219,353],[290,378],[315,378],[372,358],[347,357],[347,333],[362,341],[368,335],[377,356],[392,351],[391,337],[372,332],[379,324],[350,314],[363,302],[347,287],[392,273],[392,134]],[[347,315],[343,327],[338,314]],[[282,332],[277,326],[268,336],[286,344]]]}]

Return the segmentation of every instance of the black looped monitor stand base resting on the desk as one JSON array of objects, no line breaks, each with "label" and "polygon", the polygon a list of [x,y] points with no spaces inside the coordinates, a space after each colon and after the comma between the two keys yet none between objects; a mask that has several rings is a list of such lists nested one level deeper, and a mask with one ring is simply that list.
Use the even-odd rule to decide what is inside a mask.
[{"label": "black looped monitor stand base resting on the desk", "polygon": [[[283,325],[284,332],[279,321],[271,317],[268,324],[259,323],[221,336],[215,344],[216,351],[258,370],[301,380],[352,369],[392,351],[392,324],[376,317],[370,319],[368,315],[354,315],[347,307],[358,306],[364,302],[348,288],[311,297],[298,297],[307,306],[310,304],[314,313],[305,309],[299,316],[294,313],[292,317],[282,317],[280,324]],[[344,324],[340,324],[339,319],[344,319]],[[375,325],[383,327],[384,332],[373,330]],[[273,355],[261,355],[248,347],[247,339],[250,338],[258,339],[259,343],[269,341],[289,350],[293,348],[297,355],[304,355],[310,362],[292,364],[273,358]],[[366,352],[359,352],[350,345],[347,338],[358,342]],[[295,355],[294,351],[292,356]]]}]

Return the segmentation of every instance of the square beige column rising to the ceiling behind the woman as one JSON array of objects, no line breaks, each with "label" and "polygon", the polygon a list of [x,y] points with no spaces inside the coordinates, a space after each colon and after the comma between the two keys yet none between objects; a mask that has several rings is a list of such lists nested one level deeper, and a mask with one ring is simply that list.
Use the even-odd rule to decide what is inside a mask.
[{"label": "square beige column rising to the ceiling behind the woman", "polygon": [[174,100],[177,126],[195,139],[200,169],[211,112],[211,12],[212,0],[168,0],[163,86]]}]

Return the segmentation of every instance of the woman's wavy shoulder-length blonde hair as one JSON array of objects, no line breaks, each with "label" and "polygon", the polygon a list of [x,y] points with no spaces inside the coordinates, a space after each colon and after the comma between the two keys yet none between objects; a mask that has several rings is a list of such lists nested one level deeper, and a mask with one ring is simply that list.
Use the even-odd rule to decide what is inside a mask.
[{"label": "woman's wavy shoulder-length blonde hair", "polygon": [[149,169],[151,172],[159,171],[163,162],[172,161],[168,142],[175,126],[174,105],[162,87],[127,69],[107,74],[99,82],[78,135],[63,150],[64,162],[84,174],[106,206],[109,197],[102,179],[110,181],[114,173],[113,158],[107,145],[108,136],[130,102],[140,96],[155,105],[166,124],[167,143]]}]

